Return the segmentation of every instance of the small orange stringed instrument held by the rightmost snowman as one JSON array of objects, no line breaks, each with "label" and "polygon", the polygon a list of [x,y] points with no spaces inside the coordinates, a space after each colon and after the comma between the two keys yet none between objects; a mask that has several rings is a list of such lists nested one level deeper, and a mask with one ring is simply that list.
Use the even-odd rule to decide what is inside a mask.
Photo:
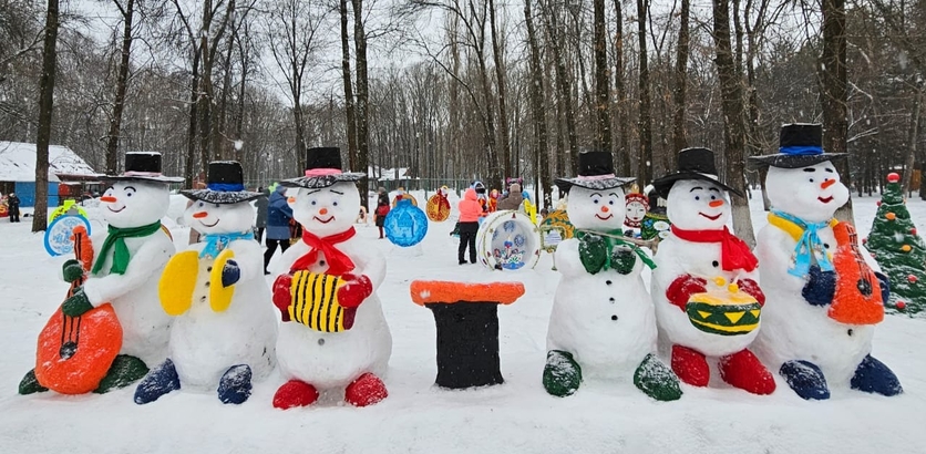
[{"label": "small orange stringed instrument held by the rightmost snowman", "polygon": [[845,324],[875,324],[884,320],[884,301],[872,268],[858,250],[858,237],[848,223],[833,227],[836,252],[836,292],[830,306],[831,319]]}]

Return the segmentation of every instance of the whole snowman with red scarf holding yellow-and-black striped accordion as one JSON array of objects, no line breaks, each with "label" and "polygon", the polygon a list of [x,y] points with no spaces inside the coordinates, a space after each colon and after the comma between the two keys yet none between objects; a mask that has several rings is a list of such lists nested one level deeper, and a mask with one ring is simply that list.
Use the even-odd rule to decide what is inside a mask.
[{"label": "whole snowman with red scarf holding yellow-and-black striped accordion", "polygon": [[274,305],[282,324],[277,359],[288,381],[274,406],[309,405],[320,391],[344,390],[354,406],[387,396],[381,376],[392,353],[392,336],[375,295],[385,277],[385,257],[359,238],[353,216],[360,207],[354,182],[342,173],[338,148],[310,148],[306,176],[282,182],[294,218],[302,226],[274,267]]}]

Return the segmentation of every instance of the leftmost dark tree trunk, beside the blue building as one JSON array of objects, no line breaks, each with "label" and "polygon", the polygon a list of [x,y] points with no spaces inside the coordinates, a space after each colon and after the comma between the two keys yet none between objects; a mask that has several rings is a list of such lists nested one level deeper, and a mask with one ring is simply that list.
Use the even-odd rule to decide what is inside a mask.
[{"label": "leftmost dark tree trunk, beside the blue building", "polygon": [[32,231],[44,231],[49,218],[49,144],[54,109],[54,75],[58,63],[58,0],[49,0],[42,73],[39,75],[39,127],[35,137],[35,208]]}]

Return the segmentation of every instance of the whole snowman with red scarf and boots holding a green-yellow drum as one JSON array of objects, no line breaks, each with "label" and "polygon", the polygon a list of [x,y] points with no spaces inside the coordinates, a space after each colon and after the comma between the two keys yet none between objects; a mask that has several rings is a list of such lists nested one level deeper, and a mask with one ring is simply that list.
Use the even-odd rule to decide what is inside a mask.
[{"label": "whole snowman with red scarf and boots holding a green-yellow drum", "polygon": [[682,149],[678,165],[654,182],[671,221],[651,282],[660,344],[670,348],[672,370],[692,386],[708,385],[711,358],[730,385],[771,394],[774,378],[748,350],[765,302],[755,281],[759,261],[727,228],[727,193],[742,194],[719,180],[710,149]]}]

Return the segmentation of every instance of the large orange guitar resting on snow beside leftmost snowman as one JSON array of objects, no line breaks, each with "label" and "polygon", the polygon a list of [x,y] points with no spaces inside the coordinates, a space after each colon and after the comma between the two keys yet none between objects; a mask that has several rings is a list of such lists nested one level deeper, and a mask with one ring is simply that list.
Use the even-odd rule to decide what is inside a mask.
[{"label": "large orange guitar resting on snow beside leftmost snowman", "polygon": [[[74,252],[84,271],[93,264],[93,247],[84,227],[74,229]],[[83,285],[85,276],[71,282],[68,296]],[[35,379],[42,386],[62,394],[83,394],[95,390],[106,376],[122,348],[122,326],[112,305],[105,303],[69,317],[61,308],[39,333]]]}]

